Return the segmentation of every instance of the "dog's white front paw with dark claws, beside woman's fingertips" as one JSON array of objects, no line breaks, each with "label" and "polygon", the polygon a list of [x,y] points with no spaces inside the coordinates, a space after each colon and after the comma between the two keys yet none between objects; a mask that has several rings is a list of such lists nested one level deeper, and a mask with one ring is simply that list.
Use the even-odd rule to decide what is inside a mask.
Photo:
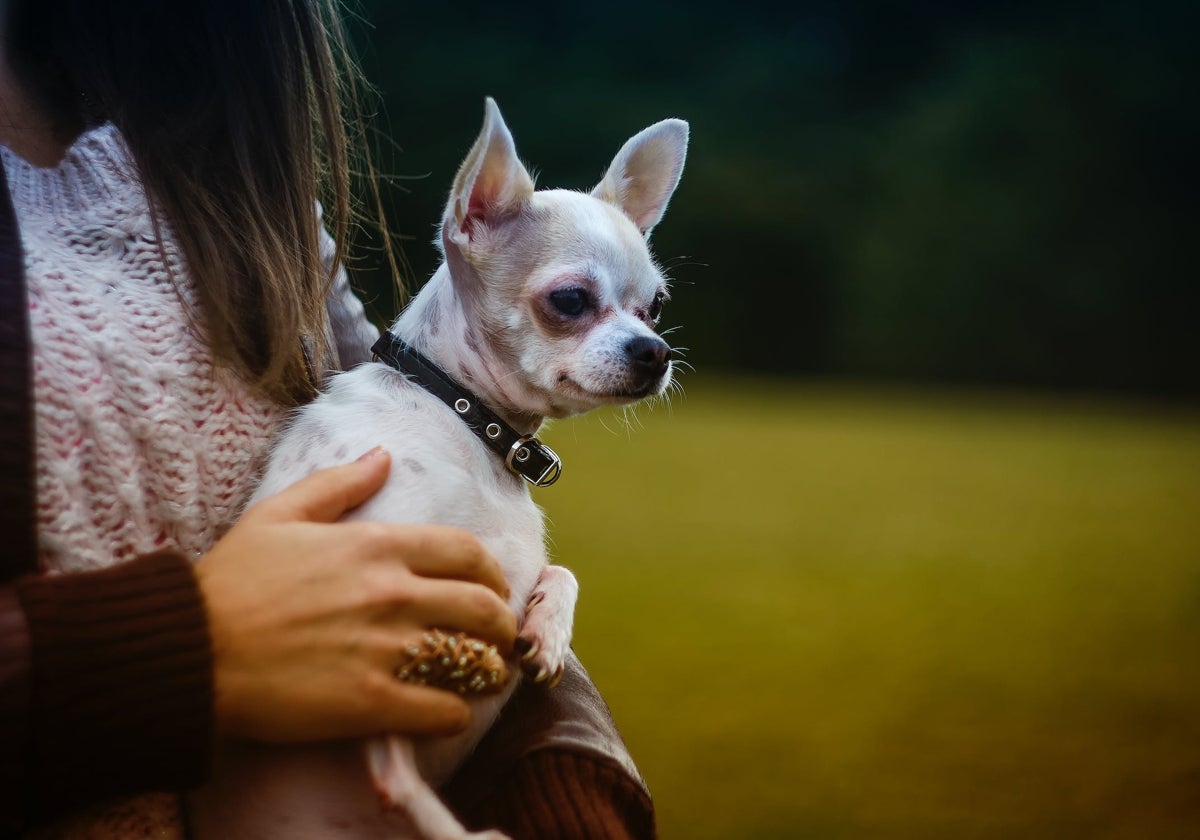
[{"label": "dog's white front paw with dark claws, beside woman's fingertips", "polygon": [[578,590],[575,576],[563,566],[546,566],[538,578],[514,646],[535,683],[548,680],[553,688],[563,678]]}]

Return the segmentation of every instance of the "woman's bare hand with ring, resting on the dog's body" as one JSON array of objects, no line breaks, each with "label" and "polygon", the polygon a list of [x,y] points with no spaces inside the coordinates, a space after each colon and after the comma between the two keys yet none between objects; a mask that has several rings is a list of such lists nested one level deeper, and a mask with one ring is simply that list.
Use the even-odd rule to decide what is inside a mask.
[{"label": "woman's bare hand with ring, resting on the dog's body", "polygon": [[312,474],[250,508],[197,563],[222,733],[306,742],[466,727],[461,697],[394,672],[406,644],[433,626],[508,654],[508,587],[467,532],[337,522],[383,486],[390,466],[377,449]]}]

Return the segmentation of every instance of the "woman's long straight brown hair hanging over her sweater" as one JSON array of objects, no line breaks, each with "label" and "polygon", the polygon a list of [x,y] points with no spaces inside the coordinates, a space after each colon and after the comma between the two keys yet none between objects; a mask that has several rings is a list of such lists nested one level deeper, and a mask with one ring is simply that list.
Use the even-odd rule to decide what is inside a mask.
[{"label": "woman's long straight brown hair hanging over her sweater", "polygon": [[364,134],[365,90],[338,0],[8,0],[23,85],[73,136],[112,120],[196,281],[216,359],[286,403],[310,397],[328,347],[337,242],[358,154],[394,274]]}]

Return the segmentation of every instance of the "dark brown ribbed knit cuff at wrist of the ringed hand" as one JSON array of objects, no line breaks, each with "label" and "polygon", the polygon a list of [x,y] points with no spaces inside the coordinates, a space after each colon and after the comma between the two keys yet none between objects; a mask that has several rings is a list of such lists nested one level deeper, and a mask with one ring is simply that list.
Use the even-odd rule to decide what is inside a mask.
[{"label": "dark brown ribbed knit cuff at wrist of the ringed hand", "polygon": [[212,653],[191,565],[173,553],[24,577],[31,700],[26,818],[200,782],[212,743]]}]

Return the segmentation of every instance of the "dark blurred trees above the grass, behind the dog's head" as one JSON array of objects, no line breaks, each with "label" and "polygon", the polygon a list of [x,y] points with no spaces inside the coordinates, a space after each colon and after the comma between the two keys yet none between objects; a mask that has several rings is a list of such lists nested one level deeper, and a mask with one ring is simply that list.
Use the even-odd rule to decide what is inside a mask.
[{"label": "dark blurred trees above the grass, behind the dog's head", "polygon": [[485,95],[541,186],[682,116],[654,246],[701,371],[1200,395],[1198,4],[361,8],[409,288]]}]

